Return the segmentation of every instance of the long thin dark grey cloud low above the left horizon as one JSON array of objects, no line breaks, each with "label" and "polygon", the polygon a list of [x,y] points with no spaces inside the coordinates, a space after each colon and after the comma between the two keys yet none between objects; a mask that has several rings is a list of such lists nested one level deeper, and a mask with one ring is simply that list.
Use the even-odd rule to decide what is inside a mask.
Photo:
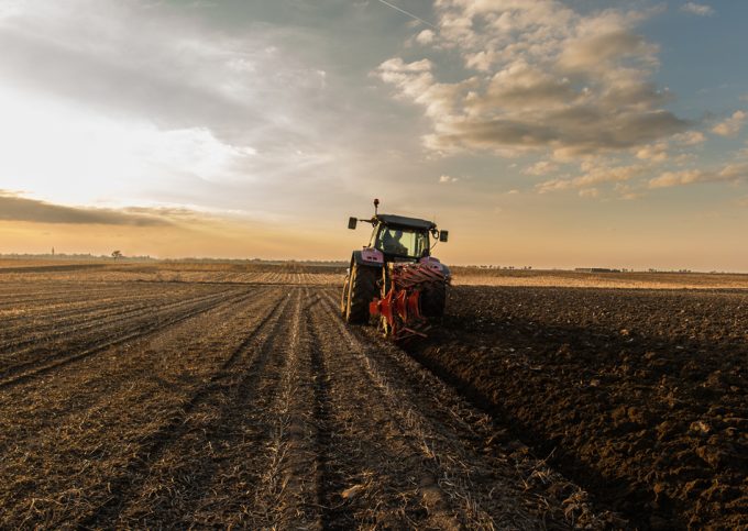
[{"label": "long thin dark grey cloud low above the left horizon", "polygon": [[112,209],[65,207],[28,199],[0,190],[0,220],[34,223],[72,223],[97,225],[161,226],[170,222],[162,217]]}]

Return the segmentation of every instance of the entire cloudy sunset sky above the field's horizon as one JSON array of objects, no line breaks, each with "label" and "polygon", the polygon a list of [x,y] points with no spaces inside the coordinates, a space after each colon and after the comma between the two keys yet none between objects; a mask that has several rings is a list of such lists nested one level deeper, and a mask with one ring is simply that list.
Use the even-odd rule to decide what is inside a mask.
[{"label": "entire cloudy sunset sky above the field's horizon", "polygon": [[0,253],[748,272],[748,2],[0,0]]}]

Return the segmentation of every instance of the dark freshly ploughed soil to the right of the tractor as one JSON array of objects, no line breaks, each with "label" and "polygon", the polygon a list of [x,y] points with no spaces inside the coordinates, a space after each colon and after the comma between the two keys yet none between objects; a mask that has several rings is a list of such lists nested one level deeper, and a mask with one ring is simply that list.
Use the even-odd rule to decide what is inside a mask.
[{"label": "dark freshly ploughed soil to the right of the tractor", "polygon": [[411,353],[640,528],[748,526],[748,292],[474,288]]}]

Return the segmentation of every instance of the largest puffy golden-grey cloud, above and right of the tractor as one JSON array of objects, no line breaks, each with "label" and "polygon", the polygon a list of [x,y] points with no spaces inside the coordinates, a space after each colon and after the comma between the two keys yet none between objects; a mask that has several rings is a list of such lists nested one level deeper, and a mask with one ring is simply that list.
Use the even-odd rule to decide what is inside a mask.
[{"label": "largest puffy golden-grey cloud, above and right of the tractor", "polygon": [[581,14],[556,0],[439,0],[436,9],[433,46],[460,54],[466,74],[441,81],[430,60],[400,57],[376,69],[424,108],[430,150],[573,158],[642,148],[689,125],[649,80],[659,49],[636,26],[652,11]]}]

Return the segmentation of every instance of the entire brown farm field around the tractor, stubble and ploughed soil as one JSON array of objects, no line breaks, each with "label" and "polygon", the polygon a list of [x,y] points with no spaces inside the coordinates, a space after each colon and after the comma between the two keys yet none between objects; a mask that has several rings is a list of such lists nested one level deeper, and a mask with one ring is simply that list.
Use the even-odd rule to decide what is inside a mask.
[{"label": "entire brown farm field around the tractor, stubble and ploughed soil", "polygon": [[748,524],[745,276],[458,269],[406,350],[340,281],[0,264],[0,528]]}]

